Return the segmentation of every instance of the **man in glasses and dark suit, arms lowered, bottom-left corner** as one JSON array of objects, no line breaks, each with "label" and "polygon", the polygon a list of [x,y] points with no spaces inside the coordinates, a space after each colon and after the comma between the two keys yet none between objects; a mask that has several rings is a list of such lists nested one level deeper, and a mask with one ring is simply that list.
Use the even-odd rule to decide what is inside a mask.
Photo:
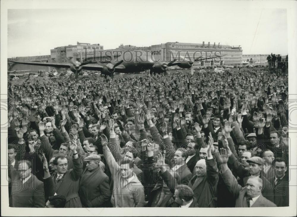
[{"label": "man in glasses and dark suit, arms lowered, bottom-left corner", "polygon": [[43,183],[31,171],[30,161],[20,162],[18,174],[12,177],[15,184],[11,190],[10,207],[42,208],[45,206]]}]

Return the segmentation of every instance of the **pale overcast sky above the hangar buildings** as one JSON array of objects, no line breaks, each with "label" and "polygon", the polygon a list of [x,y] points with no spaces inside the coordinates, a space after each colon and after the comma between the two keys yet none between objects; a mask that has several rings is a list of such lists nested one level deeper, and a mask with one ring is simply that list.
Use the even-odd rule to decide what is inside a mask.
[{"label": "pale overcast sky above the hangar buildings", "polygon": [[97,2],[81,1],[91,9],[9,9],[8,57],[50,55],[77,41],[104,49],[204,41],[241,45],[243,54],[288,52],[286,9],[255,7],[255,1]]}]

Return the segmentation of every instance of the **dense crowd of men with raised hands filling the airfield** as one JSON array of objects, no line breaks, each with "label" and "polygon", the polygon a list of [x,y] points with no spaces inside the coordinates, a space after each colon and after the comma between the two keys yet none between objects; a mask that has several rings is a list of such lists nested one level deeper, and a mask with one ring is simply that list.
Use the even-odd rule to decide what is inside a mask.
[{"label": "dense crowd of men with raised hands filling the airfield", "polygon": [[289,205],[288,75],[8,84],[10,207]]}]

